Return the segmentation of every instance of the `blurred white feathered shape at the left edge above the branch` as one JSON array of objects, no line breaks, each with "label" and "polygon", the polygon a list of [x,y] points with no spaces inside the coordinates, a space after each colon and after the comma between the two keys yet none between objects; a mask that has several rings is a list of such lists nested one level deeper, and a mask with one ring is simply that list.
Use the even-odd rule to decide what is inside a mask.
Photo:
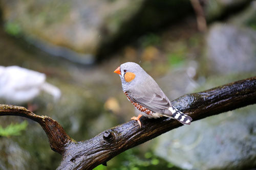
[{"label": "blurred white feathered shape at the left edge above the branch", "polygon": [[19,66],[0,66],[0,99],[8,104],[24,104],[35,98],[41,90],[60,98],[60,90],[46,82],[46,75]]}]

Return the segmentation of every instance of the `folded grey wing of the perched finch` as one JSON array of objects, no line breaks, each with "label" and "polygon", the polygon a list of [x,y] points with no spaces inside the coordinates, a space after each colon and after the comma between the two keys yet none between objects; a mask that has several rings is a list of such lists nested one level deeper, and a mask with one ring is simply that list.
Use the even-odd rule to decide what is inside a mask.
[{"label": "folded grey wing of the perched finch", "polygon": [[164,92],[157,86],[151,88],[132,88],[126,91],[130,99],[153,112],[165,113],[171,104]]}]

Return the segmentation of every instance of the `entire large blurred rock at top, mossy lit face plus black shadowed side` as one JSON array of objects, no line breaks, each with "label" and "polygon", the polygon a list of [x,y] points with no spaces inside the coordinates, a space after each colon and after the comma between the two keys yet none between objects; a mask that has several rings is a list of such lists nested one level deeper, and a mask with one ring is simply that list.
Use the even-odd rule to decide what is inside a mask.
[{"label": "entire large blurred rock at top, mossy lit face plus black shadowed side", "polygon": [[94,55],[106,56],[134,36],[191,12],[186,0],[0,2],[8,33],[22,34],[52,55],[89,64]]}]

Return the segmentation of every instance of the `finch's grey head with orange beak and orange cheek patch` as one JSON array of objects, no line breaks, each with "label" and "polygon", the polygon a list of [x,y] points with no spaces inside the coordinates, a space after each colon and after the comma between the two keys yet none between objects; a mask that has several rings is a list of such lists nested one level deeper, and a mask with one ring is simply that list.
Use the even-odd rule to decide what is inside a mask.
[{"label": "finch's grey head with orange beak and orange cheek patch", "polygon": [[143,81],[145,76],[147,76],[143,68],[134,62],[123,63],[114,72],[119,74],[121,78],[123,91],[128,90],[135,82]]}]

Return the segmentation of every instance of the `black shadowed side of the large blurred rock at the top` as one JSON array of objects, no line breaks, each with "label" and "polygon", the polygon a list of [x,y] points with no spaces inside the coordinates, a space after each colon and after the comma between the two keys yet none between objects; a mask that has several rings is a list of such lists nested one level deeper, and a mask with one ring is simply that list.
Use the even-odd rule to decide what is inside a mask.
[{"label": "black shadowed side of the large blurred rock at the top", "polygon": [[102,39],[97,55],[98,59],[103,59],[125,43],[141,35],[158,31],[166,26],[175,25],[192,12],[193,8],[187,0],[144,1],[130,19],[121,23],[117,34],[106,35],[109,38]]}]

